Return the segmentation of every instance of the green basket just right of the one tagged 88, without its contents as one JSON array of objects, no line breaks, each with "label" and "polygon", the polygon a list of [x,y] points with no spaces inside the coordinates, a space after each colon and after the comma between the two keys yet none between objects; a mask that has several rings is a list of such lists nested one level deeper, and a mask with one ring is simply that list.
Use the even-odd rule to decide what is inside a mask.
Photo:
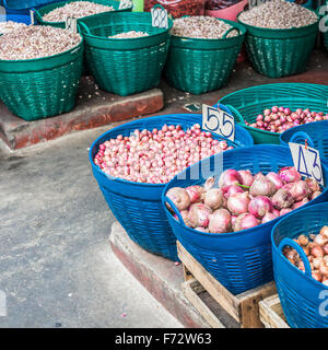
[{"label": "green basket just right of the one tagged 88, without its contents", "polygon": [[[168,83],[178,90],[202,94],[226,84],[245,39],[243,25],[232,25],[221,39],[198,39],[172,36],[165,74]],[[225,36],[238,31],[235,37]]]}]

